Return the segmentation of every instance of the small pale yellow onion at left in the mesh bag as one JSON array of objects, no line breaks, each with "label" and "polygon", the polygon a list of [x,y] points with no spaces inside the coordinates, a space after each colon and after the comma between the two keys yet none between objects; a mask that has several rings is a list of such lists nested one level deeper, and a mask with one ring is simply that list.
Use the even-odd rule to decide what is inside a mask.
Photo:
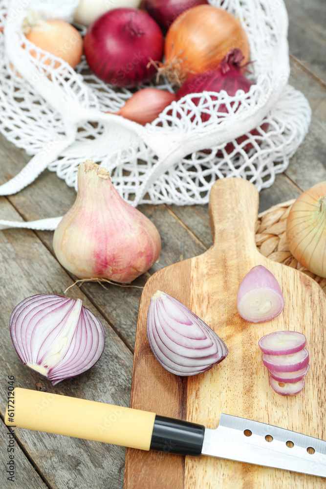
[{"label": "small pale yellow onion at left in the mesh bag", "polygon": [[[44,21],[32,12],[22,23],[22,30],[26,39],[50,54],[66,61],[75,68],[83,54],[83,38],[78,30],[71,24],[61,20]],[[31,49],[31,55],[37,57],[36,51]],[[41,55],[41,59],[43,54]],[[46,59],[45,65],[51,60]],[[55,62],[54,67],[60,66]]]}]

